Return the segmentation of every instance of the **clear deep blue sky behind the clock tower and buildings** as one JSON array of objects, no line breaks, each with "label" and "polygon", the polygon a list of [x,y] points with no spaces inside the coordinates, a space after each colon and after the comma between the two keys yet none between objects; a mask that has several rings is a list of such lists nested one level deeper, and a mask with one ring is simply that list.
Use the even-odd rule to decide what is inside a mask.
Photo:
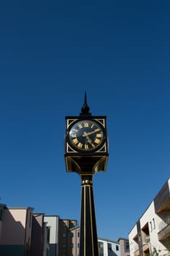
[{"label": "clear deep blue sky behind the clock tower and buildings", "polygon": [[0,203],[80,222],[65,116],[107,116],[98,236],[128,232],[169,178],[170,1],[1,1]]}]

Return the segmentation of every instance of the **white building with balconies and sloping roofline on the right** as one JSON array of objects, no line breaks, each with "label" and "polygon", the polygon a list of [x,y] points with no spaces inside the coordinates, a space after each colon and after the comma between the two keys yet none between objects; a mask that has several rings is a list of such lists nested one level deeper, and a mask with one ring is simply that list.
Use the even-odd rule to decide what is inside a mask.
[{"label": "white building with balconies and sloping roofline on the right", "polygon": [[170,178],[128,234],[130,255],[170,255]]}]

